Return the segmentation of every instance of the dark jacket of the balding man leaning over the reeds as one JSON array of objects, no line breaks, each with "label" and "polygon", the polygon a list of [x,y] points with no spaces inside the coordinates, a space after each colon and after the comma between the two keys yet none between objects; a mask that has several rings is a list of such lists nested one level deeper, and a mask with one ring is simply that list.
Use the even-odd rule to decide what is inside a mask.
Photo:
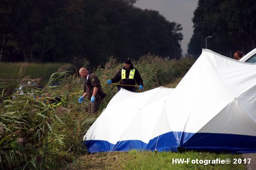
[{"label": "dark jacket of the balding man leaning over the reeds", "polygon": [[98,88],[97,94],[100,95],[103,94],[102,87],[99,82],[99,78],[94,73],[89,73],[88,79],[85,79],[84,83],[84,93],[87,93],[88,99],[90,99],[93,95],[93,88]]}]

